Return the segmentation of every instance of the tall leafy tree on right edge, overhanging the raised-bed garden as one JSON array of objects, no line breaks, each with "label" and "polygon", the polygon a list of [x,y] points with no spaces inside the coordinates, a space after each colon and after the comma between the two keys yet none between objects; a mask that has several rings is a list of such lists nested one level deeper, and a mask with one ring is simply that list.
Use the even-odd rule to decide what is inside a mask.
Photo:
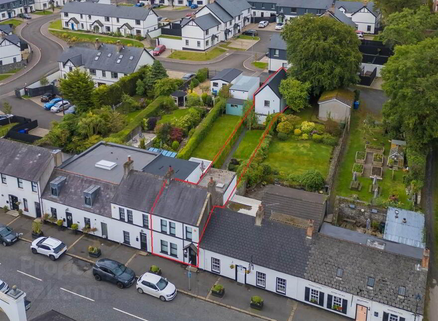
[{"label": "tall leafy tree on right edge, overhanging the raised-bed garden", "polygon": [[438,137],[438,38],[396,46],[382,69],[389,100],[383,116],[392,133],[405,132],[411,146],[422,148]]}]

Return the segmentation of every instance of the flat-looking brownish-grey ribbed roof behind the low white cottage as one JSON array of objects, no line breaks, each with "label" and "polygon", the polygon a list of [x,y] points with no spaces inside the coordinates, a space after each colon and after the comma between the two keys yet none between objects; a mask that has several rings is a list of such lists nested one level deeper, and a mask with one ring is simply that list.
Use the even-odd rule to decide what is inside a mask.
[{"label": "flat-looking brownish-grey ribbed roof behind the low white cottage", "polygon": [[271,213],[272,210],[276,213],[313,219],[316,229],[324,220],[326,201],[327,195],[276,185],[268,185],[262,197],[266,214]]}]

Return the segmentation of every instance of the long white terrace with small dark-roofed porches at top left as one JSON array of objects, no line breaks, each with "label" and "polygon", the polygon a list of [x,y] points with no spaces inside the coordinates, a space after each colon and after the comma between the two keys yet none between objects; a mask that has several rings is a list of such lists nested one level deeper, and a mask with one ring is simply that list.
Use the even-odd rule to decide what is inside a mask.
[{"label": "long white terrace with small dark-roofed porches at top left", "polygon": [[61,21],[63,28],[71,30],[120,32],[142,37],[158,28],[158,15],[152,9],[89,1],[67,2],[61,9]]}]

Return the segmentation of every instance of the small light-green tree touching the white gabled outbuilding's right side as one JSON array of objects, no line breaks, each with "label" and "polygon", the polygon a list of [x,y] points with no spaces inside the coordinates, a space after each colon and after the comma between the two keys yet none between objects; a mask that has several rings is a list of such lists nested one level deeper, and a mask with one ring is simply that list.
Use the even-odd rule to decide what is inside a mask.
[{"label": "small light-green tree touching the white gabled outbuilding's right side", "polygon": [[278,89],[286,100],[286,104],[289,108],[299,111],[305,107],[309,107],[309,92],[311,87],[309,82],[302,83],[294,77],[288,77],[281,81]]}]

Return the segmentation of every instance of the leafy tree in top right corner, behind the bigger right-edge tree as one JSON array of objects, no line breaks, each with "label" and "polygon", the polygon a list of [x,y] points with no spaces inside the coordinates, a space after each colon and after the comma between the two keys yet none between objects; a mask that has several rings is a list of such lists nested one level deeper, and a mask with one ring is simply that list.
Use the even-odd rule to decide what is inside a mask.
[{"label": "leafy tree in top right corner, behind the bigger right-edge tree", "polygon": [[379,34],[384,44],[408,45],[426,39],[426,30],[436,29],[438,16],[431,13],[428,7],[421,6],[417,10],[404,8],[387,17],[386,27]]}]

